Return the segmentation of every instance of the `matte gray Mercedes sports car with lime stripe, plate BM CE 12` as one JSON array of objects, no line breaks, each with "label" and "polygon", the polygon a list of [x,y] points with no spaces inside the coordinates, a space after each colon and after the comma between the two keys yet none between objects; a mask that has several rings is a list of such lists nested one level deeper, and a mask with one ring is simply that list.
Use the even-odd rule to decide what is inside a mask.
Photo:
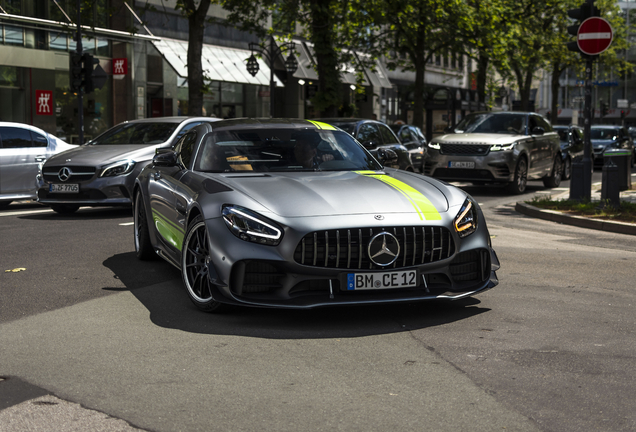
[{"label": "matte gray Mercedes sports car with lime stripe, plate BM CE 12", "polygon": [[326,123],[202,124],[158,150],[134,186],[140,259],[181,270],[200,309],[458,299],[499,261],[462,190],[384,168]]}]

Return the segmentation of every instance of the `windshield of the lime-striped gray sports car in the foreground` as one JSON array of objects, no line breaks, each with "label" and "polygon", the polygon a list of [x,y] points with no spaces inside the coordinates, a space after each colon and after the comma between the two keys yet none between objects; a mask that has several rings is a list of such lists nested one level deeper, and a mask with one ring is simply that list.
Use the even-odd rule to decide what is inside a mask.
[{"label": "windshield of the lime-striped gray sports car in the foreground", "polygon": [[260,129],[210,134],[194,169],[205,172],[380,170],[382,166],[341,131]]}]

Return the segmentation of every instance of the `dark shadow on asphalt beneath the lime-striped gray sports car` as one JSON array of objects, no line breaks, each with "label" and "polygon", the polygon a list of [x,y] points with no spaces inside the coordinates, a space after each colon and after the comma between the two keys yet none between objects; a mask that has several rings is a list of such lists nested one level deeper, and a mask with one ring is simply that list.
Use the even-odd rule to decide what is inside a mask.
[{"label": "dark shadow on asphalt beneath the lime-striped gray sports car", "polygon": [[440,326],[479,315],[475,298],[389,305],[336,306],[309,310],[232,307],[222,314],[199,311],[180,272],[164,261],[138,261],[134,253],[104,262],[164,328],[190,333],[268,339],[351,338]]}]

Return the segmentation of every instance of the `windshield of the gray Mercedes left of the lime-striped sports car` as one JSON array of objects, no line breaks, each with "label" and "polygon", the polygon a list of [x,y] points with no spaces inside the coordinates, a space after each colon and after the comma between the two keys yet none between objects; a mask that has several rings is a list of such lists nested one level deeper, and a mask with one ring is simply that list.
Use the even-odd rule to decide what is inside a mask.
[{"label": "windshield of the gray Mercedes left of the lime-striped sports car", "polygon": [[179,123],[123,123],[117,125],[87,145],[161,144],[172,136]]}]

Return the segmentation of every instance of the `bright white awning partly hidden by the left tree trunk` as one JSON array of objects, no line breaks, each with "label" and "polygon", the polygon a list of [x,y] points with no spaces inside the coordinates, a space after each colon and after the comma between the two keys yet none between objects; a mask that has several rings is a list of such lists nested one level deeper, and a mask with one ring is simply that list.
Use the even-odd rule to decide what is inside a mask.
[{"label": "bright white awning partly hidden by the left tree trunk", "polygon": [[[152,44],[180,77],[188,77],[187,41],[162,39],[153,41]],[[260,69],[256,76],[247,71],[246,64],[250,55],[250,50],[203,44],[201,65],[205,75],[212,81],[269,86],[269,67],[263,59],[257,58]],[[283,87],[276,75],[274,81],[276,86]]]}]

